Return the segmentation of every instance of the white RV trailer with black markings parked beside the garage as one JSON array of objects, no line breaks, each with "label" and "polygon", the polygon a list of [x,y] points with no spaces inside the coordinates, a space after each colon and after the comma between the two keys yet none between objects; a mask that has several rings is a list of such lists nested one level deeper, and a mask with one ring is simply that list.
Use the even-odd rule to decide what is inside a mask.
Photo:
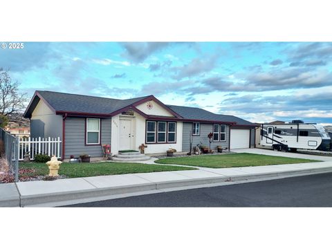
[{"label": "white RV trailer with black markings parked beside the garage", "polygon": [[279,151],[293,152],[297,149],[331,149],[331,138],[319,124],[293,120],[284,124],[261,124],[261,142]]}]

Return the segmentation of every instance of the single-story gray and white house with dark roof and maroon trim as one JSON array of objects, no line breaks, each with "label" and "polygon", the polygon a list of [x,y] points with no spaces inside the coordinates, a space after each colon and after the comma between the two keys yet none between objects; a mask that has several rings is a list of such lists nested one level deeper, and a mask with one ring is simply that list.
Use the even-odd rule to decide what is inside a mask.
[{"label": "single-story gray and white house with dark roof and maroon trim", "polygon": [[190,151],[192,145],[248,148],[255,145],[255,124],[234,116],[220,115],[194,107],[160,102],[153,95],[118,100],[89,95],[35,91],[25,113],[30,118],[31,138],[60,137],[62,158],[89,154],[102,156],[102,144],[112,154],[138,150],[146,154],[165,153],[169,147]]}]

